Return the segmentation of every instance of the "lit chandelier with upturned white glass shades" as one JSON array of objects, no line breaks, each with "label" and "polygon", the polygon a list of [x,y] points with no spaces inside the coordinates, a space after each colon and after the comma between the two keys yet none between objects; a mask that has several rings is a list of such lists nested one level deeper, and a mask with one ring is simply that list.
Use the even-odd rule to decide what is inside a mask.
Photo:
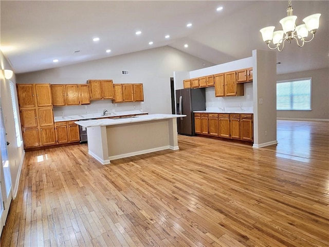
[{"label": "lit chandelier with upturned white glass shades", "polygon": [[[297,16],[293,15],[293,7],[291,7],[291,0],[288,2],[287,17],[280,20],[283,30],[274,31],[274,26],[264,27],[260,30],[264,42],[271,50],[278,49],[282,51],[284,43],[292,40],[296,40],[299,47],[303,47],[305,43],[311,42],[314,39],[315,33],[319,28],[319,19],[321,14],[312,14],[303,19],[305,24],[301,24],[296,27]],[[306,40],[308,32],[312,33],[313,37],[310,40]],[[275,47],[271,47],[270,43],[273,43]],[[282,47],[281,47],[282,44]]]}]

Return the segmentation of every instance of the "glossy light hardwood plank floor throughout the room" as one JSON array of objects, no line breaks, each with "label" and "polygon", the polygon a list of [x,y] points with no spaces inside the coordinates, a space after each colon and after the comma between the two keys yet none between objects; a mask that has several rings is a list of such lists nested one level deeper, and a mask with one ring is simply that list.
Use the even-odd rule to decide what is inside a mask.
[{"label": "glossy light hardwood plank floor throughout the room", "polygon": [[1,246],[328,246],[328,132],[279,120],[277,146],[179,136],[105,166],[27,152]]}]

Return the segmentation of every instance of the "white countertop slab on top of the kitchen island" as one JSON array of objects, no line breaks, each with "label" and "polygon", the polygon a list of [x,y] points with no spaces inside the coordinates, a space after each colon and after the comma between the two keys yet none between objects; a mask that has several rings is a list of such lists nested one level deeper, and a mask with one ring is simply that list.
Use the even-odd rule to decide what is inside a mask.
[{"label": "white countertop slab on top of the kitchen island", "polygon": [[83,127],[96,127],[96,126],[108,126],[108,125],[122,125],[124,123],[153,121],[153,120],[169,119],[169,118],[177,118],[177,117],[186,117],[186,115],[149,114],[149,115],[141,115],[135,117],[127,117],[127,118],[115,118],[115,119],[106,118],[106,119],[76,121],[75,123]]}]

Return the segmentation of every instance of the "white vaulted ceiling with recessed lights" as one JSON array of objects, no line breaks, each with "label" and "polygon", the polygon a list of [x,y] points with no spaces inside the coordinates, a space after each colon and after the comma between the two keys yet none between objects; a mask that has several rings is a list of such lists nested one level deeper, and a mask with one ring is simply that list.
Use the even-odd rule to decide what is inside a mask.
[{"label": "white vaulted ceiling with recessed lights", "polygon": [[[321,13],[320,27],[304,47],[293,41],[277,51],[278,74],[329,67],[329,1],[292,4],[297,24]],[[268,49],[259,30],[270,25],[281,29],[279,20],[286,16],[287,5],[288,1],[1,0],[1,49],[15,73],[165,45],[221,64],[251,57],[253,49]],[[224,7],[221,12],[216,11],[219,6]],[[187,23],[193,26],[187,28]],[[94,42],[95,37],[100,41]],[[106,49],[112,51],[107,54]]]}]

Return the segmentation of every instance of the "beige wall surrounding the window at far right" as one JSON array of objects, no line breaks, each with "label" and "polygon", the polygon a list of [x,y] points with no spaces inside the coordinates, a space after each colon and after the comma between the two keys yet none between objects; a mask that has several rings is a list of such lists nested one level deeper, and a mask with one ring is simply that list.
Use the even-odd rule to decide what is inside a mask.
[{"label": "beige wall surrounding the window at far right", "polygon": [[277,75],[277,81],[312,77],[311,111],[277,111],[278,118],[329,119],[329,68]]}]

